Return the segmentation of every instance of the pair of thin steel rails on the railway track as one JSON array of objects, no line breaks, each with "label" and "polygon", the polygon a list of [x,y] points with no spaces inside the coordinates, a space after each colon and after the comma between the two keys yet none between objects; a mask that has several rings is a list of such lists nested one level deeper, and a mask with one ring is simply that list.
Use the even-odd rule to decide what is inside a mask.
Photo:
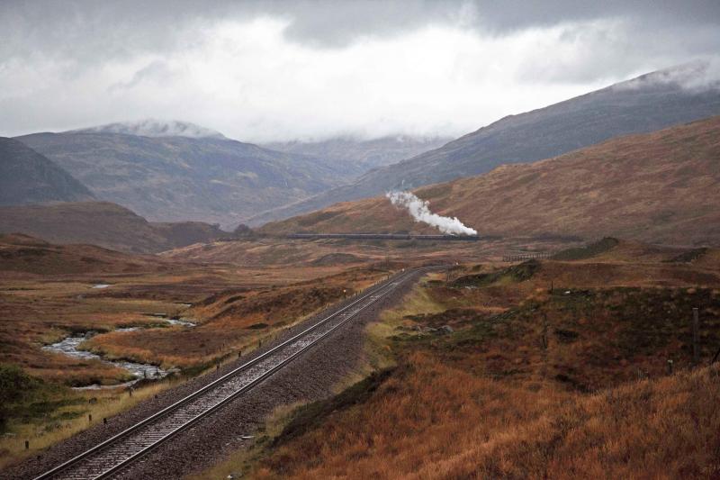
[{"label": "pair of thin steel rails on the railway track", "polygon": [[247,369],[249,367],[253,367],[253,366],[257,365],[262,360],[264,360],[266,358],[270,358],[273,354],[275,354],[275,352],[292,345],[297,340],[300,340],[300,339],[302,339],[302,337],[305,337],[312,331],[319,329],[321,326],[323,326],[323,325],[327,324],[328,322],[330,322],[331,320],[335,319],[336,317],[338,317],[338,315],[340,315],[343,312],[346,312],[348,309],[352,308],[356,304],[365,301],[367,298],[371,297],[374,294],[380,294],[380,296],[378,296],[377,298],[371,299],[372,302],[361,306],[356,312],[353,312],[352,314],[348,315],[342,322],[338,322],[337,325],[330,328],[329,331],[326,331],[325,333],[321,334],[320,337],[318,337],[316,340],[311,341],[311,343],[302,347],[302,349],[296,351],[290,357],[285,358],[284,360],[281,360],[281,362],[279,364],[277,364],[275,367],[270,368],[265,373],[258,376],[256,379],[252,380],[247,385],[243,385],[242,387],[240,387],[238,389],[237,392],[230,394],[227,398],[220,401],[220,403],[217,403],[217,404],[211,406],[209,409],[199,413],[198,415],[193,417],[193,419],[191,419],[189,421],[185,421],[183,424],[179,425],[175,430],[172,430],[171,432],[164,435],[162,438],[157,439],[156,441],[153,441],[153,443],[150,444],[148,447],[143,448],[142,450],[140,450],[139,452],[137,452],[135,454],[132,454],[130,457],[122,460],[121,463],[110,467],[109,469],[103,471],[103,473],[101,473],[100,475],[94,476],[94,478],[95,479],[106,478],[108,475],[112,475],[113,473],[116,473],[122,467],[129,465],[131,462],[137,460],[139,457],[148,453],[148,451],[150,451],[151,449],[156,448],[160,443],[166,441],[166,439],[169,439],[169,438],[173,437],[176,433],[189,428],[197,421],[202,420],[203,417],[209,415],[211,412],[215,412],[216,410],[218,410],[219,408],[224,406],[226,403],[235,399],[239,394],[243,394],[243,393],[247,392],[248,390],[257,386],[261,382],[265,381],[269,376],[272,376],[273,374],[275,374],[275,372],[277,370],[281,369],[282,367],[284,367],[285,365],[287,365],[288,363],[293,361],[293,359],[300,356],[307,349],[310,349],[311,347],[316,345],[318,342],[320,342],[320,340],[327,338],[330,333],[337,330],[340,326],[349,322],[352,318],[354,318],[360,312],[363,312],[366,308],[372,306],[374,303],[377,303],[383,296],[390,293],[395,287],[397,287],[397,285],[401,285],[401,283],[406,281],[413,273],[416,273],[416,272],[419,272],[419,271],[422,271],[422,270],[425,270],[428,268],[432,268],[432,267],[423,267],[423,268],[410,270],[409,272],[403,272],[401,274],[396,274],[396,275],[388,278],[384,282],[382,282],[378,285],[374,285],[373,287],[367,289],[365,291],[365,293],[362,294],[362,296],[360,296],[356,300],[354,300],[350,303],[347,303],[345,306],[342,306],[342,308],[338,309],[337,311],[330,313],[325,318],[321,319],[318,322],[315,322],[313,325],[311,325],[311,327],[301,331],[300,333],[297,333],[296,335],[293,335],[293,337],[291,337],[290,339],[284,340],[282,343],[278,344],[273,349],[269,349],[266,352],[264,352],[263,354],[258,355],[257,358],[253,358],[252,360],[247,361],[245,364],[243,364],[237,368],[234,368],[229,373],[227,373],[223,376],[220,376],[220,378],[213,380],[210,384],[199,388],[198,390],[194,391],[192,394],[189,394],[189,395],[185,396],[184,398],[182,398],[181,400],[179,400],[175,403],[172,403],[171,405],[168,405],[166,408],[162,409],[161,411],[156,412],[156,413],[148,416],[147,418],[143,419],[142,421],[135,423],[134,425],[130,426],[128,429],[122,430],[120,433],[112,436],[110,439],[106,439],[103,442],[95,445],[93,448],[89,448],[89,449],[85,450],[85,452],[77,455],[76,457],[70,458],[66,462],[53,467],[52,469],[48,470],[47,472],[37,476],[35,478],[35,480],[44,480],[47,478],[51,478],[54,475],[58,475],[58,474],[62,473],[63,471],[70,468],[71,466],[79,464],[81,461],[90,457],[94,453],[99,452],[103,448],[107,448],[107,447],[111,446],[112,444],[121,441],[122,439],[128,437],[131,433],[133,433],[145,426],[150,425],[153,421],[158,421],[158,420],[164,418],[169,413],[177,411],[180,407],[184,406],[187,403],[190,403],[194,399],[198,398],[200,395],[208,393],[212,389],[225,384],[229,379],[231,379],[235,376],[238,376],[238,374],[241,374],[241,373],[247,371]]}]

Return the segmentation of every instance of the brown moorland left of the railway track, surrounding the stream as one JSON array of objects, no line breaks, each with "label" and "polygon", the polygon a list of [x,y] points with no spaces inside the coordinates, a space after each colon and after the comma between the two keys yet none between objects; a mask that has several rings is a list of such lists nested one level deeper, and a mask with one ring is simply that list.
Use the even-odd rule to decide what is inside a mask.
[{"label": "brown moorland left of the railway track, surrounding the stream", "polygon": [[[31,258],[28,260],[28,258]],[[338,261],[335,261],[338,260]],[[53,245],[23,235],[0,241],[0,467],[121,412],[158,390],[202,373],[238,349],[302,320],[346,294],[387,275],[393,262],[344,258],[238,266],[139,256],[86,245]],[[102,285],[102,288],[96,286]],[[197,322],[173,326],[168,319]],[[139,327],[139,331],[113,331]],[[80,349],[180,367],[181,373],[138,387],[118,385],[122,368],[97,359],[69,358],[42,346],[94,331]],[[213,368],[214,369],[214,368]],[[84,420],[85,419],[85,420]],[[31,448],[23,448],[29,439]]]}]

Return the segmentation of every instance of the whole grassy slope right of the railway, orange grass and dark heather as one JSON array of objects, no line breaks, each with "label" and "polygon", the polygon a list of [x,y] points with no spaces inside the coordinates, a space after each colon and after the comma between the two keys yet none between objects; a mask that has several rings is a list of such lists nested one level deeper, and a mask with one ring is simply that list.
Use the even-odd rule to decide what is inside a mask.
[{"label": "whole grassy slope right of the railway, orange grass and dark heather", "polygon": [[[705,363],[720,346],[717,253],[668,261],[676,249],[621,241],[529,277],[480,267],[494,282],[477,288],[437,276],[384,317],[392,374],[299,410],[253,474],[718,475],[720,370],[690,369],[688,322],[699,306]],[[455,332],[429,330],[444,324]]]}]

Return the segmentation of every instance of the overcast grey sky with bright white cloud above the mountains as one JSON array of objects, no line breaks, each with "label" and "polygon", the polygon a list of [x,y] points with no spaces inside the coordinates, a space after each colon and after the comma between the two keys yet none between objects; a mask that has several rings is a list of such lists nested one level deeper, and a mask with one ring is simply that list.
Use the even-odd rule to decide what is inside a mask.
[{"label": "overcast grey sky with bright white cloud above the mountains", "polygon": [[528,4],[0,0],[0,135],[459,136],[720,52],[717,0]]}]

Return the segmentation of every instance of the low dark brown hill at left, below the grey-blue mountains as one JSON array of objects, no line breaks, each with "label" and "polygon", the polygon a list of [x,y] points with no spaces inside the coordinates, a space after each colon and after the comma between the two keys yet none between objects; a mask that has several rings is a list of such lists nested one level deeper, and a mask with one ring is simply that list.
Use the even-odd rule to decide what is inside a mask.
[{"label": "low dark brown hill at left, below the grey-blue mountains", "polygon": [[108,202],[0,207],[0,233],[23,233],[52,243],[93,244],[134,253],[157,253],[230,236],[202,222],[148,222]]}]

